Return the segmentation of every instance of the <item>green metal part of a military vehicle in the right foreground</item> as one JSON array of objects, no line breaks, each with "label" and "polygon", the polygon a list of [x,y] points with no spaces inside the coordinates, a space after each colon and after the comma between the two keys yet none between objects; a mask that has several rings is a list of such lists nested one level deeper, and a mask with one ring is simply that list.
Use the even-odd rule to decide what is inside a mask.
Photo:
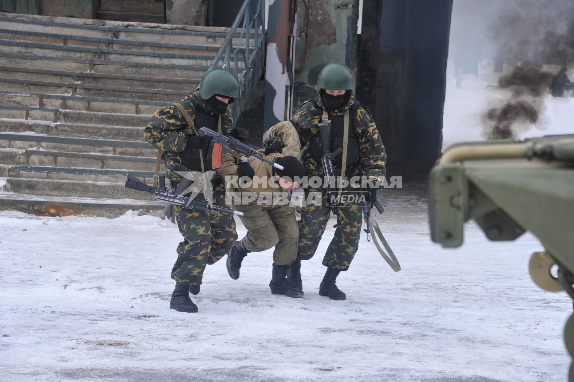
[{"label": "green metal part of a military vehicle in the right foreground", "polygon": [[[530,257],[532,281],[574,299],[573,184],[574,135],[452,145],[430,172],[430,236],[444,248],[458,247],[470,219],[492,241],[530,231],[544,246]],[[564,341],[574,357],[574,315]],[[574,382],[574,364],[569,381]]]}]

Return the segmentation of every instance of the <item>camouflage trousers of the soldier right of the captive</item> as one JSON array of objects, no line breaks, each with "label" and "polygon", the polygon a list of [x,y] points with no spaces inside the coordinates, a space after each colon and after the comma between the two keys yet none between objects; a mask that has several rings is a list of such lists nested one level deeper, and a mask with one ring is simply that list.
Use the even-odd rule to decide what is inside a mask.
[{"label": "camouflage trousers of the soldier right of the captive", "polygon": [[[310,192],[321,192],[313,188],[305,189],[305,200]],[[342,206],[337,209],[337,228],[327,248],[323,265],[346,271],[359,248],[360,227],[363,221],[363,209],[358,206]],[[317,203],[303,203],[299,221],[298,260],[309,260],[319,246],[321,236],[331,216],[331,207],[327,206],[327,197],[322,195]]]}]

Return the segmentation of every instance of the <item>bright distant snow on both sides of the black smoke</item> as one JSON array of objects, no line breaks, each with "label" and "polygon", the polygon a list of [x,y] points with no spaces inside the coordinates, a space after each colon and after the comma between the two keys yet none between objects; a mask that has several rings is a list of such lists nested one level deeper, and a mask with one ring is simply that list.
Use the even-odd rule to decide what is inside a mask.
[{"label": "bright distant snow on both sides of the black smoke", "polygon": [[[450,71],[449,71],[450,73]],[[483,82],[466,75],[461,89],[456,89],[456,78],[448,76],[444,103],[443,151],[456,142],[483,141],[481,116],[492,106],[500,106],[507,99],[508,90],[488,87],[496,82]],[[518,138],[542,137],[550,134],[574,134],[574,98],[564,92],[564,98],[545,98],[546,111],[541,113],[537,126],[526,126]]]}]

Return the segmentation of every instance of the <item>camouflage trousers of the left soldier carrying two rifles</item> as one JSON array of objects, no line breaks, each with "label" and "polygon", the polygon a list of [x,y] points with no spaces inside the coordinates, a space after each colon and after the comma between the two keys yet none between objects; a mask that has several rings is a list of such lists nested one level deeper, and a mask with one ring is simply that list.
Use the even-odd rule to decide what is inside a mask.
[{"label": "camouflage trousers of the left soldier carrying two rifles", "polygon": [[[214,204],[225,206],[223,180],[216,178],[212,183]],[[203,193],[197,197],[203,198]],[[235,221],[227,215],[188,210],[180,206],[174,208],[183,241],[177,246],[172,279],[178,283],[199,285],[205,265],[215,264],[235,244]]]}]

